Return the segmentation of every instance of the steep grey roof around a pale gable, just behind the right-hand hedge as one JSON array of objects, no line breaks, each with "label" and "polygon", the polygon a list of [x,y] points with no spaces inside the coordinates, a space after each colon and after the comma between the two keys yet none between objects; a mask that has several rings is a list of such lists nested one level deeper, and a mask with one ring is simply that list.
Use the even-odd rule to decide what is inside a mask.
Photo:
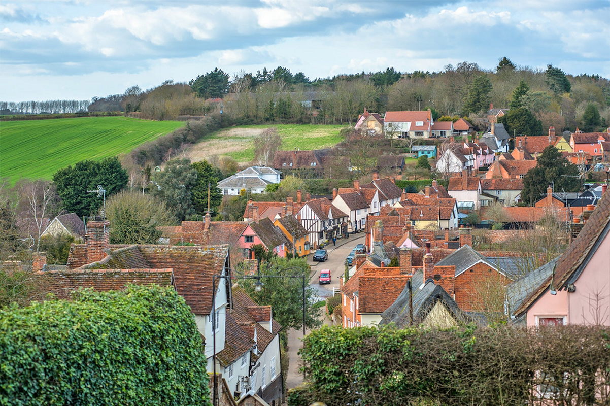
[{"label": "steep grey roof around a pale gable, just behind the right-hand hedge", "polygon": [[[459,310],[453,298],[440,285],[435,285],[431,279],[424,284],[421,269],[415,271],[411,281],[414,324],[423,322],[437,302],[445,305],[445,308],[456,320],[465,318],[464,313]],[[406,284],[396,301],[381,313],[380,325],[390,324],[391,322],[395,323],[398,328],[409,326],[409,289]]]}]

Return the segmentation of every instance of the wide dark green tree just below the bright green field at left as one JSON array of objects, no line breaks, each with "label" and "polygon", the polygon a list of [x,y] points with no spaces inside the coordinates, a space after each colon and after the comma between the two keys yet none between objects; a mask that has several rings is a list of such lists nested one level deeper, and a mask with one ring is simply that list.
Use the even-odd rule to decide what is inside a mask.
[{"label": "wide dark green tree just below the bright green field at left", "polygon": [[100,185],[106,190],[106,198],[127,186],[127,171],[123,169],[117,157],[102,161],[85,160],[74,167],[59,169],[53,175],[57,194],[62,199],[62,207],[77,216],[89,216],[102,207],[102,198],[89,190],[96,190]]}]

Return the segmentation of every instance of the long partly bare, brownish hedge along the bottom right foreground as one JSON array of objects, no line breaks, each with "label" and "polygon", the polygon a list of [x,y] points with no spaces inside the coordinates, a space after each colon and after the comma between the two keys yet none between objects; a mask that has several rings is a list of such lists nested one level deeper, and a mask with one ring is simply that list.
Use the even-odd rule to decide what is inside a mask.
[{"label": "long partly bare, brownish hedge along the bottom right foreground", "polygon": [[610,404],[608,327],[325,326],[301,355],[289,406]]}]

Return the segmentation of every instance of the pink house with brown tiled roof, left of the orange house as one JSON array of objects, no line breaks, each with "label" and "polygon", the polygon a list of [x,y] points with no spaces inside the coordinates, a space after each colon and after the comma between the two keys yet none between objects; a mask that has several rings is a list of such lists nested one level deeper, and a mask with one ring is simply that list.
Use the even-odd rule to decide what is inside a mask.
[{"label": "pink house with brown tiled roof, left of the orange house", "polygon": [[262,244],[265,250],[273,251],[278,254],[278,257],[282,258],[292,250],[292,243],[268,218],[262,218],[248,224],[237,241],[246,258],[249,257],[252,246],[256,244]]}]

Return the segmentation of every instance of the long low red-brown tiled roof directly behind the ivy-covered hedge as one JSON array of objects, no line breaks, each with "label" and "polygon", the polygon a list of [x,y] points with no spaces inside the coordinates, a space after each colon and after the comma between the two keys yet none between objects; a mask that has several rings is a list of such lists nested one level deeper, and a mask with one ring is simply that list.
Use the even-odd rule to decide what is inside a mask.
[{"label": "long low red-brown tiled roof directly behind the ivy-covered hedge", "polygon": [[168,287],[171,286],[171,274],[171,269],[72,269],[39,271],[36,276],[43,293],[53,293],[57,299],[70,299],[70,293],[79,288],[104,292],[121,290],[129,283]]}]

